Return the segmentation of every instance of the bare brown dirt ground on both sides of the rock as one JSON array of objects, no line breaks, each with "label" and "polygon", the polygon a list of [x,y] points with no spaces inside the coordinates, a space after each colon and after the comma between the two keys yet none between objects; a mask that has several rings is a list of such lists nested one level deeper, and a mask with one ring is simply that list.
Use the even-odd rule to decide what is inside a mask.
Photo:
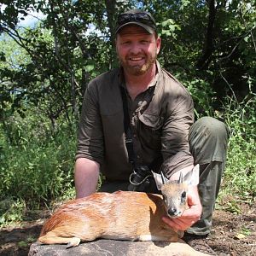
[{"label": "bare brown dirt ground on both sides of the rock", "polygon": [[[220,256],[256,256],[256,206],[241,205],[241,214],[216,210],[212,233],[205,240]],[[0,229],[0,255],[27,255],[47,212],[33,212],[30,221]]]}]

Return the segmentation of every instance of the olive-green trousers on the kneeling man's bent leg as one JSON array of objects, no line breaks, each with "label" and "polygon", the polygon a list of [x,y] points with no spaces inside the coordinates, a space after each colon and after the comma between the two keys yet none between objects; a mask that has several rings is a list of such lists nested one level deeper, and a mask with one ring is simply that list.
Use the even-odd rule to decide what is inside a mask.
[{"label": "olive-green trousers on the kneeling man's bent leg", "polygon": [[[212,212],[226,162],[229,129],[224,123],[211,117],[203,117],[189,130],[190,152],[195,165],[200,165],[198,185],[203,212],[201,220],[187,230],[195,235],[206,235],[212,227]],[[104,183],[99,191],[127,190],[127,183]],[[148,192],[148,191],[146,191]]]}]

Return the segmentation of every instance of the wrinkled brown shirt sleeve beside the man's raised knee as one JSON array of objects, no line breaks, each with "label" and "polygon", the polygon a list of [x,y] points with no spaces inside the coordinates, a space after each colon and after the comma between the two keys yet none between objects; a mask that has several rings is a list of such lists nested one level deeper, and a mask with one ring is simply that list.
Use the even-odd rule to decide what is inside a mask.
[{"label": "wrinkled brown shirt sleeve beside the man's raised knee", "polygon": [[177,172],[194,162],[189,152],[189,128],[194,122],[194,105],[182,86],[170,96],[166,113],[161,153],[164,160],[170,159],[172,162],[172,172]]}]

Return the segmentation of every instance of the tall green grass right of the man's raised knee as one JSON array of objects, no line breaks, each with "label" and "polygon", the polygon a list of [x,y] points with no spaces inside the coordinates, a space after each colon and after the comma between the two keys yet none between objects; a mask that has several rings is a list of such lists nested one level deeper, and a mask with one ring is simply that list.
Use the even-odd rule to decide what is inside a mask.
[{"label": "tall green grass right of the man's raised knee", "polygon": [[241,103],[230,99],[223,117],[231,129],[231,136],[221,195],[229,194],[237,200],[253,202],[256,196],[255,94]]}]

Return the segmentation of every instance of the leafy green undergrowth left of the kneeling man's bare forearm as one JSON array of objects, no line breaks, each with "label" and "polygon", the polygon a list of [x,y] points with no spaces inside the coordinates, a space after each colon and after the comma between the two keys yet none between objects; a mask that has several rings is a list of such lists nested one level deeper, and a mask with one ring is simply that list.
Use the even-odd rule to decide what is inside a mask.
[{"label": "leafy green undergrowth left of the kneeling man's bare forearm", "polygon": [[9,120],[9,130],[15,132],[12,143],[1,138],[0,200],[11,196],[33,205],[73,187],[75,130],[61,125],[51,133],[47,122],[36,125],[37,121],[18,115]]}]

